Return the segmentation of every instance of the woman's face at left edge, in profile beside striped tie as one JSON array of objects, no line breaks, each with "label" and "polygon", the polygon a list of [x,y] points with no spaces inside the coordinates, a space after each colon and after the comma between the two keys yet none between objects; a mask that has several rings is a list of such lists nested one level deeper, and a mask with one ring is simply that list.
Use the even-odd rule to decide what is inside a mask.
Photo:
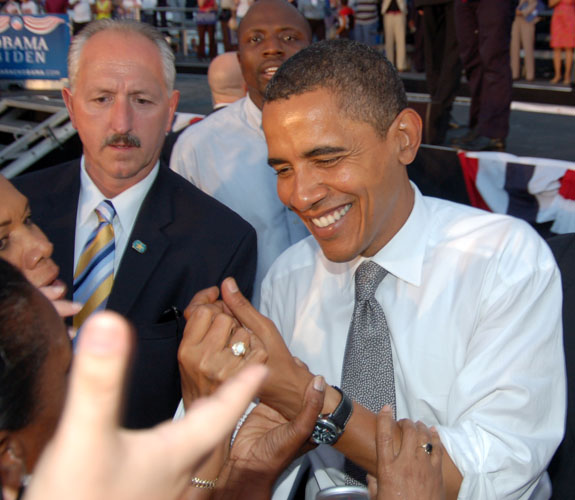
[{"label": "woman's face at left edge, in profile beside striped tie", "polygon": [[32,222],[28,200],[0,175],[0,257],[16,266],[37,287],[51,285],[58,266],[53,246]]}]

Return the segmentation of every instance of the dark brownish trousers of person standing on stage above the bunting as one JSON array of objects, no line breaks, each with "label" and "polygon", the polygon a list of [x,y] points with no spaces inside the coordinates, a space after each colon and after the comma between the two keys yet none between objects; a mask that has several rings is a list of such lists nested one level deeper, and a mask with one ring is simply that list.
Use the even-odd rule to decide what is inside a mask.
[{"label": "dark brownish trousers of person standing on stage above the bunting", "polygon": [[471,92],[469,126],[480,135],[504,139],[511,107],[513,0],[455,0],[459,55]]}]

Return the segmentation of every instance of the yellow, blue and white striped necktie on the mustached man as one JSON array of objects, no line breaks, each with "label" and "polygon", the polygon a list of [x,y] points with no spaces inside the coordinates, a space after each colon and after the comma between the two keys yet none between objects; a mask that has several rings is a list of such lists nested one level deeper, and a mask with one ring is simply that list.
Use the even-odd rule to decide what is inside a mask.
[{"label": "yellow, blue and white striped necktie on the mustached man", "polygon": [[95,209],[98,227],[92,231],[74,273],[74,301],[84,304],[74,316],[74,327],[80,328],[94,311],[106,307],[114,284],[114,227],[116,209],[110,200]]}]

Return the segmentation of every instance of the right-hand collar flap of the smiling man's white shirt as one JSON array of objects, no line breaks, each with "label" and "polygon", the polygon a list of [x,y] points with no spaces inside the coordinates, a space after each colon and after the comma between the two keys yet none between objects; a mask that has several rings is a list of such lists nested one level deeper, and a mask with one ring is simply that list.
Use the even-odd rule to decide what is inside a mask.
[{"label": "right-hand collar flap of the smiling man's white shirt", "polygon": [[[415,184],[411,183],[411,187],[414,191],[414,203],[409,217],[395,236],[371,260],[395,277],[414,286],[420,286],[431,221],[425,198]],[[409,251],[406,252],[407,248]],[[364,260],[366,259],[358,260],[356,267]]]}]

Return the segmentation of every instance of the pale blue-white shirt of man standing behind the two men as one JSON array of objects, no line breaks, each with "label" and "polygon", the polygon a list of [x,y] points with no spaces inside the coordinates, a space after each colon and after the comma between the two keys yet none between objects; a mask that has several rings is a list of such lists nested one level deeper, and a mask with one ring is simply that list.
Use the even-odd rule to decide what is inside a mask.
[{"label": "pale blue-white shirt of man standing behind the two men", "polygon": [[279,200],[268,165],[262,112],[245,97],[188,127],[178,138],[170,168],[240,214],[258,235],[258,266],[252,302],[274,260],[309,234]]}]

